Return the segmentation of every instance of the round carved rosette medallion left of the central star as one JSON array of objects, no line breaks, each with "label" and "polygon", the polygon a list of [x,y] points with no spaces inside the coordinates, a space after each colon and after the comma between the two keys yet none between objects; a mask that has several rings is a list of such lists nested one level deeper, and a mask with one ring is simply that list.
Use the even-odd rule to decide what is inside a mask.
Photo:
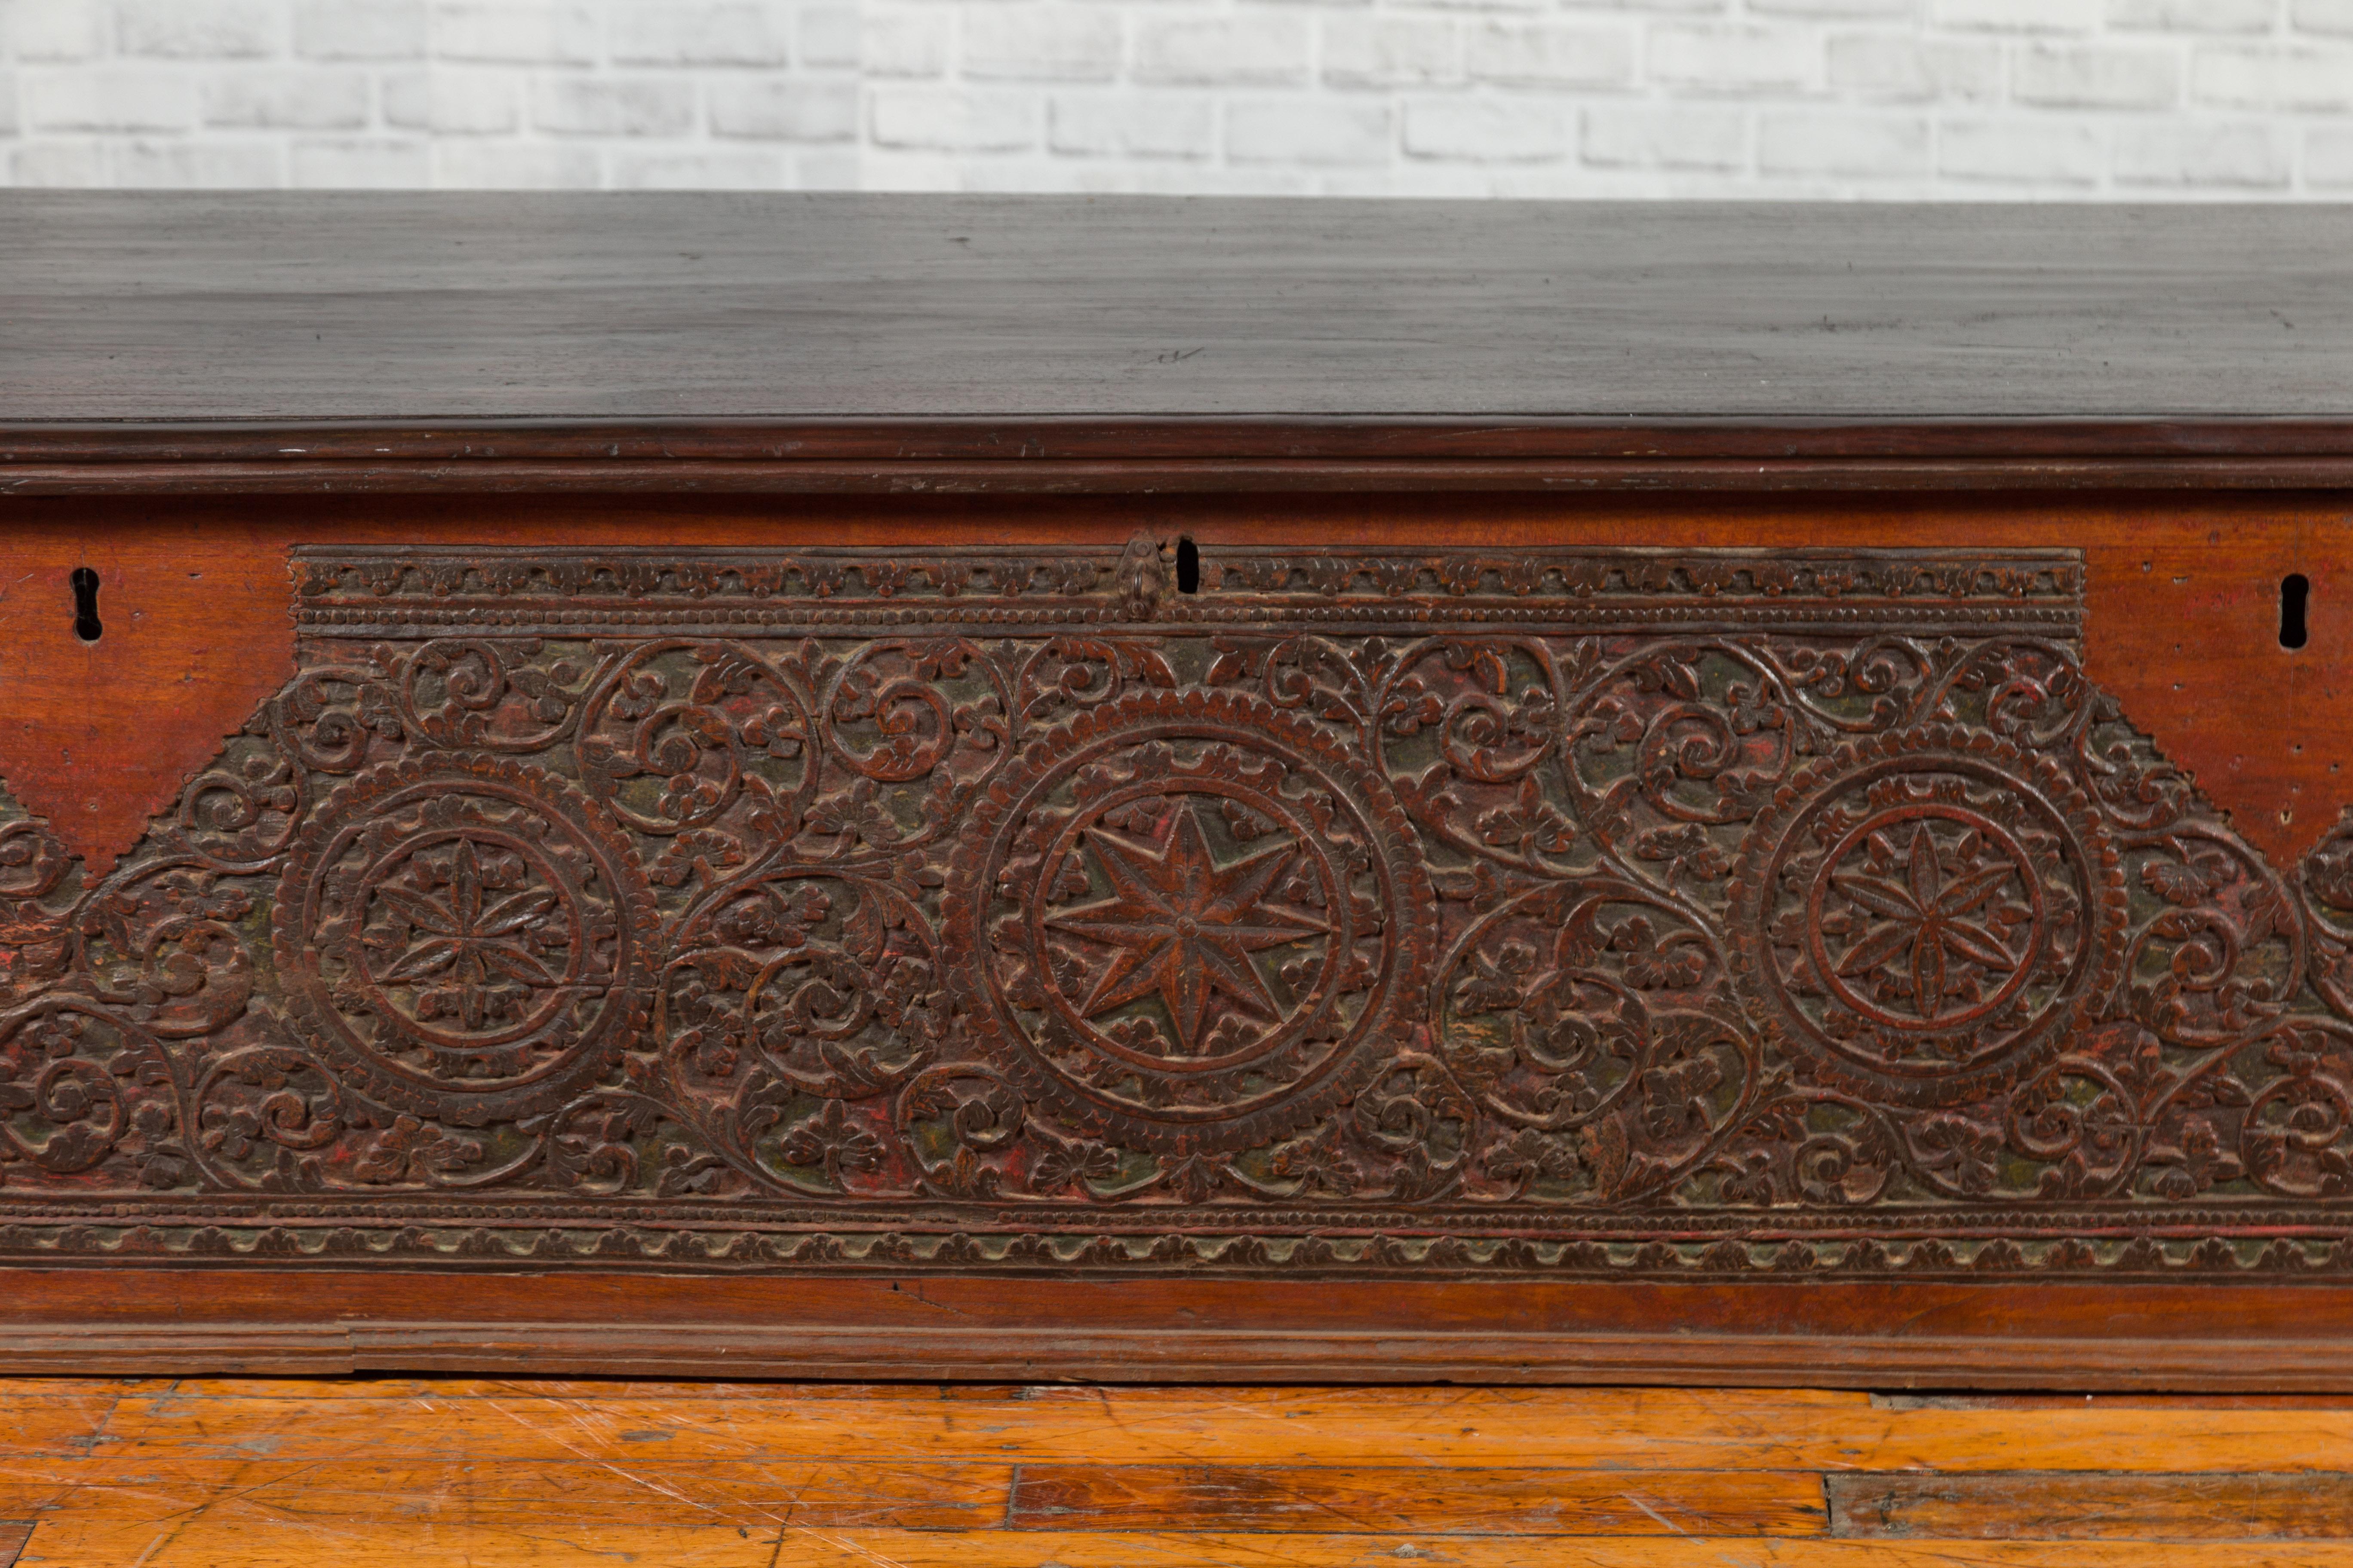
[{"label": "round carved rosette medallion left of the central star", "polygon": [[275,907],[292,1020],[386,1105],[480,1126],[551,1110],[645,1023],[654,900],[612,818],[494,757],[336,790]]}]

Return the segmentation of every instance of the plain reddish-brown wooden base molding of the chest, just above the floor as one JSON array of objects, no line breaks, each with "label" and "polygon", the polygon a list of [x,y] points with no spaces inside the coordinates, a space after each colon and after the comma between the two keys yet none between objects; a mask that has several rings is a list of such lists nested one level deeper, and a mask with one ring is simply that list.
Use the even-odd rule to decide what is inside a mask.
[{"label": "plain reddish-brown wooden base molding of the chest, just above the floor", "polygon": [[[9,1269],[24,1373],[2344,1389],[2341,1286]],[[2024,1465],[2012,1448],[2007,1465]],[[2111,1460],[2129,1467],[2125,1458]]]}]

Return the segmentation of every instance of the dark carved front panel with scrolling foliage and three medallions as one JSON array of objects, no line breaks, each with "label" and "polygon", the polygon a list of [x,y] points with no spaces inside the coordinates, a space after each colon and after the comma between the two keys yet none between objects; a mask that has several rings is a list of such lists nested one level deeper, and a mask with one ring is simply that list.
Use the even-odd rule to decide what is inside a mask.
[{"label": "dark carved front panel with scrolling foliage and three medallions", "polygon": [[296,552],[0,827],[0,1255],[2353,1272],[2353,827],[2073,552]]}]

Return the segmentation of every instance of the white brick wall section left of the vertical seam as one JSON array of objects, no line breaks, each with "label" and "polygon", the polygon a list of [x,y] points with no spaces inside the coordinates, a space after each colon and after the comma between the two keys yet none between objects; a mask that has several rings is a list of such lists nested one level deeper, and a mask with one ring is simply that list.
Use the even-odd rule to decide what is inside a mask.
[{"label": "white brick wall section left of the vertical seam", "polygon": [[842,0],[0,0],[0,183],[847,188],[856,33]]}]

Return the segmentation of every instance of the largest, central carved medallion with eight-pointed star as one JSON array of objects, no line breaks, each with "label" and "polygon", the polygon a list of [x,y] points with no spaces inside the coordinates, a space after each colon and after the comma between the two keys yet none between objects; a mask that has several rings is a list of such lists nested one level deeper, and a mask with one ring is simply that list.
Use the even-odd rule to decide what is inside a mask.
[{"label": "largest, central carved medallion with eight-pointed star", "polygon": [[1247,1150],[1405,1048],[1433,907],[1362,759],[1266,703],[1153,691],[1035,743],[974,806],[948,947],[984,1051],[1064,1119]]}]

